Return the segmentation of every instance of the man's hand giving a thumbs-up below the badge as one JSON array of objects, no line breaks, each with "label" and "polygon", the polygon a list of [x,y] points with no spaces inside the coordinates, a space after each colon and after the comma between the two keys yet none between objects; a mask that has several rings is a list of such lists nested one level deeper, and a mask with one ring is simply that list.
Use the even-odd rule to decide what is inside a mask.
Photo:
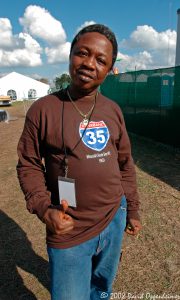
[{"label": "man's hand giving a thumbs-up below the badge", "polygon": [[62,211],[48,208],[44,214],[43,222],[47,228],[54,234],[61,235],[69,232],[74,227],[74,220],[66,214],[68,203],[66,200],[61,201]]}]

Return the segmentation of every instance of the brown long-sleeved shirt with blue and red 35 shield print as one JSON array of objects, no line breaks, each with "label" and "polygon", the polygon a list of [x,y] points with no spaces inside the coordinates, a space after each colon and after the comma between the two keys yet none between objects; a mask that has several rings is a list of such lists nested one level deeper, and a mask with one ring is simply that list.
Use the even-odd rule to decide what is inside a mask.
[{"label": "brown long-sleeved shirt with blue and red 35 shield print", "polygon": [[[83,98],[76,101],[84,113],[92,104]],[[99,94],[83,131],[82,116],[60,91],[31,106],[18,144],[20,185],[28,210],[40,219],[50,204],[59,204],[64,145],[67,150],[68,177],[75,179],[77,200],[77,208],[70,207],[67,213],[75,227],[64,235],[47,231],[51,247],[71,247],[99,234],[112,220],[123,194],[128,217],[139,218],[135,168],[119,106]]]}]

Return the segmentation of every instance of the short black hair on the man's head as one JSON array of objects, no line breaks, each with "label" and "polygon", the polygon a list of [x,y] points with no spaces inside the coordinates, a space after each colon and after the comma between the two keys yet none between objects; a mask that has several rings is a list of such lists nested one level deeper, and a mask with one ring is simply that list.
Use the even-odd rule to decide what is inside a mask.
[{"label": "short black hair on the man's head", "polygon": [[88,32],[98,32],[102,35],[104,35],[112,44],[113,46],[113,57],[112,57],[112,66],[113,67],[116,58],[117,58],[117,52],[118,52],[118,44],[117,44],[117,40],[115,37],[115,34],[111,31],[111,29],[109,29],[107,26],[103,25],[103,24],[93,24],[93,25],[89,25],[84,27],[83,29],[81,29],[76,36],[74,37],[72,43],[71,43],[71,49],[70,49],[70,55],[72,52],[72,49],[74,47],[74,45],[77,43],[77,41],[80,39],[80,37]]}]

